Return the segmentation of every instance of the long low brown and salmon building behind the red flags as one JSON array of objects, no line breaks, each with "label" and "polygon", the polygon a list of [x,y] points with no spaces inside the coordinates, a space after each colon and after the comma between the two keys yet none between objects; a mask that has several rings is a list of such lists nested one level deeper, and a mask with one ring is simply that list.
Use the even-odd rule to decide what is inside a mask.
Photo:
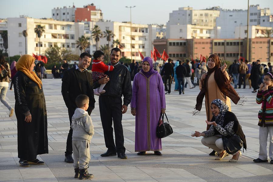
[{"label": "long low brown and salmon building behind the red flags", "polygon": [[[209,56],[217,54],[222,60],[234,61],[238,56],[246,58],[247,39],[158,39],[153,45],[162,54],[167,51],[173,60],[194,58],[200,54]],[[251,38],[249,41],[249,61],[273,61],[273,38]],[[239,48],[240,47],[240,48]]]}]

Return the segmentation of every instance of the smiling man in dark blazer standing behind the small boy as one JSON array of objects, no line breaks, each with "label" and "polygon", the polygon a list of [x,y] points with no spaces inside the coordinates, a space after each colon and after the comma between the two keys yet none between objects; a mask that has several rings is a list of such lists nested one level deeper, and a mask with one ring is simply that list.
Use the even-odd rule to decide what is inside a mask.
[{"label": "smiling man in dark blazer standing behind the small boy", "polygon": [[95,99],[93,91],[93,79],[92,74],[87,71],[86,68],[90,65],[91,55],[87,52],[83,52],[79,58],[79,64],[75,67],[67,70],[63,74],[62,78],[62,97],[68,108],[68,116],[70,121],[70,130],[66,141],[65,162],[73,163],[72,158],[72,128],[71,119],[77,108],[76,97],[80,94],[85,94],[89,97],[89,108],[87,109],[90,115],[95,108]]}]

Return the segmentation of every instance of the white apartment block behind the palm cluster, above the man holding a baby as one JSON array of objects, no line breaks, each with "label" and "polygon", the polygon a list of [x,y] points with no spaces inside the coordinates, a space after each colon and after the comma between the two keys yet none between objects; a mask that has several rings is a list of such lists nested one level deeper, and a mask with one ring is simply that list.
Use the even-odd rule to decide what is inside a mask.
[{"label": "white apartment block behind the palm cluster, above the man holding a baby", "polygon": [[[114,38],[109,42],[110,49],[113,44],[113,39],[119,39],[124,48],[121,49],[122,56],[131,59],[131,31],[130,22],[88,22],[85,28],[85,35],[91,36],[94,25],[98,25],[101,31],[111,30],[115,34]],[[150,51],[153,48],[153,40],[156,39],[156,25],[141,25],[132,24],[132,58],[140,60],[138,50],[143,56],[150,56]],[[89,30],[88,30],[89,29]],[[88,34],[87,34],[88,33]],[[90,40],[90,53],[96,51],[95,40]],[[99,47],[108,45],[106,38],[100,38]]]}]

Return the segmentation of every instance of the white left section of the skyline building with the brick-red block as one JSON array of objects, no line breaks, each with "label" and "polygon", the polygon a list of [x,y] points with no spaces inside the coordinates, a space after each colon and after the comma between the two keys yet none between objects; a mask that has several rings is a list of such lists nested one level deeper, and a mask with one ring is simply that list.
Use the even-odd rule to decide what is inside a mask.
[{"label": "white left section of the skyline building with the brick-red block", "polygon": [[66,22],[75,22],[75,6],[63,8],[54,8],[51,10],[51,16],[54,20],[66,21]]}]

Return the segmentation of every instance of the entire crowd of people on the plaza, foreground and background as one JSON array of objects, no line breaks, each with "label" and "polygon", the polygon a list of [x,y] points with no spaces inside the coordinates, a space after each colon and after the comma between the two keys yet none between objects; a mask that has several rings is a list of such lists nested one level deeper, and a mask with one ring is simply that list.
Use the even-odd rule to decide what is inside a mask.
[{"label": "entire crowd of people on the plaza, foreground and background", "polygon": [[[69,66],[67,67],[65,60],[61,66],[63,69],[61,93],[68,108],[70,121],[64,161],[73,163],[75,178],[91,179],[94,176],[88,173],[87,168],[90,160],[90,142],[94,134],[91,117],[95,108],[95,93],[99,95],[100,118],[107,148],[101,157],[117,155],[121,159],[127,158],[122,116],[127,112],[129,104],[136,123],[135,152],[137,155],[145,155],[147,151],[153,151],[155,155],[162,155],[160,152],[162,143],[157,137],[156,128],[161,114],[166,111],[165,94],[170,94],[173,78],[177,83],[175,90],[179,91],[179,94],[184,94],[185,81],[190,89],[199,85],[200,93],[197,95],[193,114],[196,115],[201,111],[205,98],[207,130],[195,131],[192,136],[203,136],[201,143],[213,149],[209,155],[218,154],[215,160],[222,160],[231,154],[233,157],[229,162],[239,160],[241,148],[228,152],[223,141],[224,137],[237,135],[242,143],[241,147],[247,149],[244,128],[231,112],[231,101],[234,104],[244,103],[244,98],[240,97],[234,88],[238,80],[238,88],[241,88],[242,82],[245,88],[245,81],[249,78],[254,91],[258,89],[256,102],[262,104],[258,113],[260,151],[258,158],[253,161],[268,162],[269,134],[269,158],[270,164],[273,164],[273,115],[271,112],[273,72],[270,64],[266,69],[259,60],[252,63],[252,66],[247,64],[247,60],[240,60],[240,64],[236,60],[227,72],[227,65],[225,63],[221,65],[218,55],[213,54],[209,56],[207,62],[201,63],[198,60],[192,62],[178,60],[173,63],[169,59],[160,68],[159,64],[153,63],[152,58],[145,57],[141,64],[133,61],[129,66],[120,62],[119,48],[111,50],[108,65],[103,63],[103,52],[96,51],[93,57],[92,61],[92,56],[84,52],[79,56],[79,63],[72,68],[68,69]],[[40,76],[42,71],[38,68],[36,73],[33,71],[35,58],[31,55],[22,55],[16,63],[12,63],[11,68],[4,58],[0,57],[0,61],[1,102],[9,109],[10,117],[13,108],[5,101],[5,94],[9,78],[12,77],[11,69],[13,70],[15,66],[17,71],[12,77],[12,82],[15,85],[19,164],[22,167],[29,167],[30,164],[45,164],[37,159],[37,155],[48,153],[46,104],[42,76]],[[91,63],[93,73],[87,71]],[[40,68],[41,65],[36,67]],[[234,87],[231,85],[229,75],[233,77]]]}]

